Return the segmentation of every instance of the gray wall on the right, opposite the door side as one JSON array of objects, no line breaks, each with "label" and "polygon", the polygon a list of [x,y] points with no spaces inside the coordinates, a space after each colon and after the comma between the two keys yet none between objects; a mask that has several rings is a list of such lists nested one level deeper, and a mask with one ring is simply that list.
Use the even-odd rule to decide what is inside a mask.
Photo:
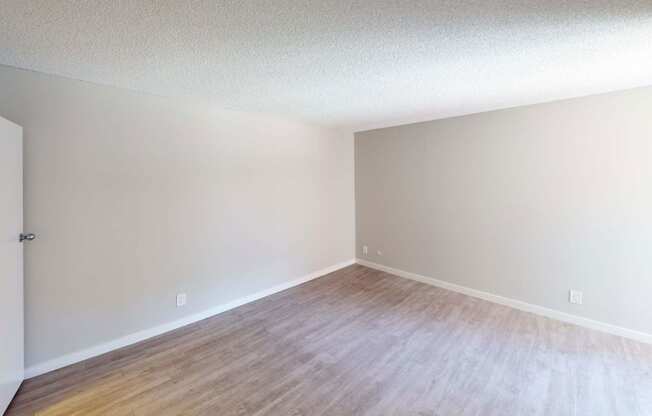
[{"label": "gray wall on the right, opposite the door side", "polygon": [[652,333],[651,88],[355,143],[359,258]]}]

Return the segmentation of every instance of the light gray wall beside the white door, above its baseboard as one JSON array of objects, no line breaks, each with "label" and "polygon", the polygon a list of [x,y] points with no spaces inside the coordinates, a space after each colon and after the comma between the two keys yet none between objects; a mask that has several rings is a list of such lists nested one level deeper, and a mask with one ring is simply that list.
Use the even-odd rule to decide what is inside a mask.
[{"label": "light gray wall beside the white door, above its baseboard", "polygon": [[350,133],[7,67],[0,115],[38,235],[27,366],[354,257]]}]

